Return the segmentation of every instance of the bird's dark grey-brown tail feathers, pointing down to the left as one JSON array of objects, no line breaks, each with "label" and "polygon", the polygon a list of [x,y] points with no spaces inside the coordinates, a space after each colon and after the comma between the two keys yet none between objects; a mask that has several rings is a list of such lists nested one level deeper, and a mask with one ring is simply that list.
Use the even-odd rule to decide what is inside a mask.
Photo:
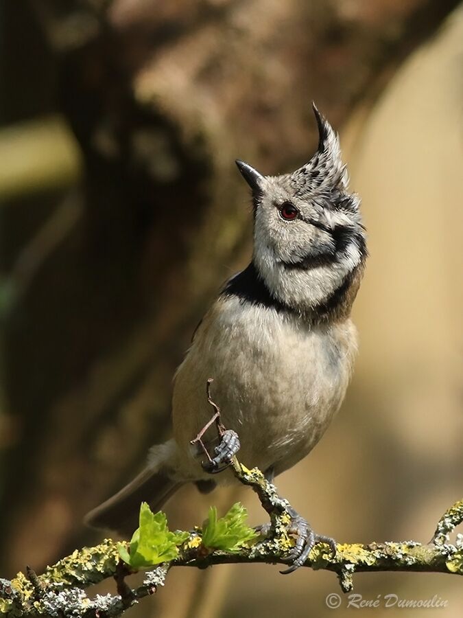
[{"label": "bird's dark grey-brown tail feathers, pointing down to the left", "polygon": [[169,479],[165,470],[147,466],[117,494],[97,506],[84,518],[86,525],[106,528],[130,538],[139,527],[142,502],[147,502],[156,513],[183,483]]}]

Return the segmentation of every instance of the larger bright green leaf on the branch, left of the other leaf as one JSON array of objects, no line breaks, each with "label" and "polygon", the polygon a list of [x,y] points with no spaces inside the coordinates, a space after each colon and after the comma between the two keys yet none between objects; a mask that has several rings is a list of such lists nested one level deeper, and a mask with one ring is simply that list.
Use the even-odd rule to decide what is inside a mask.
[{"label": "larger bright green leaf on the branch, left of the other leaf", "polygon": [[120,543],[119,556],[133,569],[146,569],[177,558],[178,545],[187,538],[188,532],[171,532],[165,514],[161,511],[154,514],[147,503],[142,502],[139,527],[130,540],[130,551]]}]

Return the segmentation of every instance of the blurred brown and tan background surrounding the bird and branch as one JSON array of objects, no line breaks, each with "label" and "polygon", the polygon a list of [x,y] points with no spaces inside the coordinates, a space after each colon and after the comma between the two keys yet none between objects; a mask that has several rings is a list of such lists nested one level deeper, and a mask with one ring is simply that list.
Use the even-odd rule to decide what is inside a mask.
[{"label": "blurred brown and tan background surrounding the bird and branch", "polygon": [[[348,398],[278,487],[341,542],[431,538],[463,480],[458,4],[0,4],[3,577],[98,542],[82,516],[169,435],[174,369],[250,258],[233,161],[265,174],[307,161],[312,100],[340,131],[370,260]],[[169,503],[169,523],[191,527],[237,499],[261,523],[250,492],[193,488]],[[457,577],[374,573],[355,586],[366,599],[437,595],[442,615],[461,615]],[[332,573],[307,569],[174,569],[130,613],[322,617],[343,613],[324,601],[338,591]]]}]

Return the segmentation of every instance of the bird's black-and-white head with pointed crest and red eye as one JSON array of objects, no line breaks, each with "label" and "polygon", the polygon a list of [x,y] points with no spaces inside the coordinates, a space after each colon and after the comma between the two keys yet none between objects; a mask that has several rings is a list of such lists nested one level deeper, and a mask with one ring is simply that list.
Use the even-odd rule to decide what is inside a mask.
[{"label": "bird's black-and-white head with pointed crest and red eye", "polygon": [[257,273],[278,301],[304,313],[324,310],[340,288],[355,285],[355,296],[366,258],[360,201],[348,192],[339,139],[313,111],[318,149],[302,168],[263,176],[237,161],[252,189]]}]

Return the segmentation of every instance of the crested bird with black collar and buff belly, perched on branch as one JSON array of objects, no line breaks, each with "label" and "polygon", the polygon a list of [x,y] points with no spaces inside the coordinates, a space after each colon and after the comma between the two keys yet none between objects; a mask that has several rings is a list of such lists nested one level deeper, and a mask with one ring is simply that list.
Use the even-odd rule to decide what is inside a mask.
[{"label": "crested bird with black collar and buff belly, perched on branch", "polygon": [[[211,418],[204,391],[211,378],[221,422],[239,436],[240,461],[270,482],[308,455],[340,409],[357,354],[351,308],[368,251],[339,137],[315,104],[313,113],[318,147],[296,171],[264,176],[236,161],[252,196],[252,259],[222,286],[176,371],[173,437],[88,513],[88,525],[127,535],[141,501],[157,511],[185,483],[209,492],[233,482],[230,471],[211,477],[191,444]],[[295,511],[294,522],[304,538],[288,571],[327,538]]]}]

